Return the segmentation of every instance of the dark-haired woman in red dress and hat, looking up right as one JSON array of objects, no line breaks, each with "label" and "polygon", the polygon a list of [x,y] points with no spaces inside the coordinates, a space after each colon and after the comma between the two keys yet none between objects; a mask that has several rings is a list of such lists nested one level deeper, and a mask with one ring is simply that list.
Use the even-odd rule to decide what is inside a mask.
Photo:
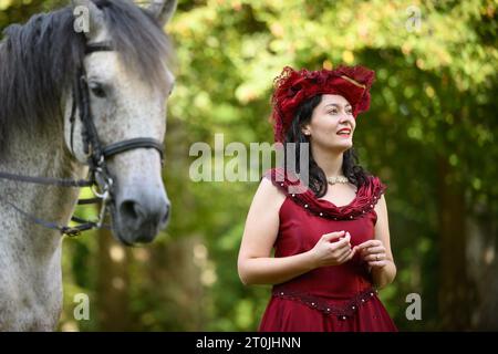
[{"label": "dark-haired woman in red dress and hat, looking up right", "polygon": [[286,67],[276,81],[274,138],[309,144],[309,156],[292,153],[293,166],[308,159],[309,184],[274,168],[252,200],[238,270],[245,284],[273,284],[259,331],[396,331],[376,295],[396,274],[386,187],[352,148],[373,80],[367,69],[342,66]]}]

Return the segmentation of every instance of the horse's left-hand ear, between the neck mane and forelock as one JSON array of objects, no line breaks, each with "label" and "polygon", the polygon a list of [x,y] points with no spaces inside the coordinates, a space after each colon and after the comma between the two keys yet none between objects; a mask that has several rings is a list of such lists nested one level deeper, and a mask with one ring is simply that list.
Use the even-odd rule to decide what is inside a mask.
[{"label": "horse's left-hand ear, between the neck mane and forelock", "polygon": [[105,29],[104,13],[92,0],[72,0],[74,30],[83,32],[89,41],[94,40]]}]

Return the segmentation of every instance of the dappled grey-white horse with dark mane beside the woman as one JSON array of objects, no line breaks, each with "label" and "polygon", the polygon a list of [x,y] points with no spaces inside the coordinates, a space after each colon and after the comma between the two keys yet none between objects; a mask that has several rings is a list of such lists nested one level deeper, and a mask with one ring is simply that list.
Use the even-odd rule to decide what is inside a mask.
[{"label": "dappled grey-white horse with dark mane beside the woman", "polygon": [[79,188],[62,185],[84,185],[76,180],[89,167],[121,242],[149,242],[166,226],[162,145],[174,76],[163,28],[175,9],[167,0],[147,9],[128,0],[74,0],[6,30],[0,331],[56,327],[61,233],[75,232],[65,226],[79,196]]}]

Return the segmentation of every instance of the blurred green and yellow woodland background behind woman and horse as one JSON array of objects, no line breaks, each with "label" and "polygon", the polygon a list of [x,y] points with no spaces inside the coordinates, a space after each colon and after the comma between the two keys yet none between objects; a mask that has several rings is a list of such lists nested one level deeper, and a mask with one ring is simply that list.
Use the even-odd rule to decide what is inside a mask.
[{"label": "blurred green and yellow woodland background behind woman and horse", "polygon": [[[0,30],[66,3],[0,0]],[[180,0],[166,28],[178,56],[164,169],[172,222],[146,248],[123,248],[107,231],[65,239],[60,330],[255,331],[270,287],[243,287],[237,253],[258,183],[194,183],[189,148],[214,146],[216,133],[271,144],[282,67],[339,64],[377,76],[354,145],[387,185],[398,272],[381,298],[391,315],[405,331],[498,330],[497,8]],[[73,316],[77,293],[90,298],[87,321]],[[422,298],[419,321],[406,317],[409,293]]]}]

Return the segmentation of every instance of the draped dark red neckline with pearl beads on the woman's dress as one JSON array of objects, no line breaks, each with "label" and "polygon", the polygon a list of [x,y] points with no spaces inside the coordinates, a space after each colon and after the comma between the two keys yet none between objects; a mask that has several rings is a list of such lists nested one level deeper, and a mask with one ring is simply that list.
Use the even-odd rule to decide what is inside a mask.
[{"label": "draped dark red neckline with pearl beads on the woman's dress", "polygon": [[375,208],[382,194],[387,188],[378,177],[370,176],[367,183],[360,186],[356,197],[345,206],[335,206],[332,201],[319,199],[314,192],[303,186],[298,178],[292,178],[283,168],[272,168],[264,174],[292,201],[309,212],[333,220],[354,220],[362,218]]}]

